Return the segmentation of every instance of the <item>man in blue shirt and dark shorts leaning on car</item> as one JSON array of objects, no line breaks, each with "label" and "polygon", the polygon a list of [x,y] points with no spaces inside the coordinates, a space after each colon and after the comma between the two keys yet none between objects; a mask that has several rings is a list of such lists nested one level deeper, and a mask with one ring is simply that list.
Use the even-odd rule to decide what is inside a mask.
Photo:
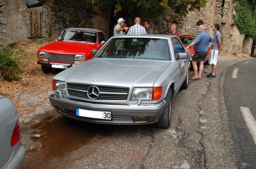
[{"label": "man in blue shirt and dark shorts leaning on car", "polygon": [[[194,76],[190,78],[190,80],[202,79],[201,75],[203,72],[203,60],[206,58],[208,54],[208,43],[213,41],[211,35],[205,32],[206,27],[204,25],[200,25],[198,27],[199,34],[197,37],[191,42],[186,49],[190,46],[194,45],[195,54],[192,57],[192,65],[194,70]],[[199,65],[199,73],[197,74],[197,62],[200,62]]]}]

